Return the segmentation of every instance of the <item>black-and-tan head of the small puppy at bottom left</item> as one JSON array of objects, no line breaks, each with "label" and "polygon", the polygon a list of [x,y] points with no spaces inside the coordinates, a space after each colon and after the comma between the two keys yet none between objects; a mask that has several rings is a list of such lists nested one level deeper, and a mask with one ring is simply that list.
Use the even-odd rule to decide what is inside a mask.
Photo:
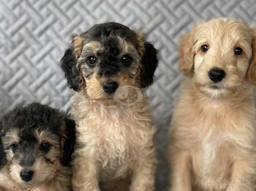
[{"label": "black-and-tan head of the small puppy at bottom left", "polygon": [[10,175],[18,184],[38,187],[69,164],[75,123],[64,113],[34,103],[13,110],[1,125]]}]

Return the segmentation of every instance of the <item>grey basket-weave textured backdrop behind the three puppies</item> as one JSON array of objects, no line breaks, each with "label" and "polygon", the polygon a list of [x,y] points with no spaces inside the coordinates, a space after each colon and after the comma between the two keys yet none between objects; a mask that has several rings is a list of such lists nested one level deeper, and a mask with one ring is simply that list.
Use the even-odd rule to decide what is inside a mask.
[{"label": "grey basket-weave textured backdrop behind the three puppies", "polygon": [[115,21],[142,29],[159,49],[159,67],[148,89],[157,126],[157,190],[168,187],[164,162],[172,101],[179,92],[179,36],[214,17],[256,22],[255,0],[0,0],[0,117],[33,101],[67,109],[74,93],[59,61],[71,34]]}]

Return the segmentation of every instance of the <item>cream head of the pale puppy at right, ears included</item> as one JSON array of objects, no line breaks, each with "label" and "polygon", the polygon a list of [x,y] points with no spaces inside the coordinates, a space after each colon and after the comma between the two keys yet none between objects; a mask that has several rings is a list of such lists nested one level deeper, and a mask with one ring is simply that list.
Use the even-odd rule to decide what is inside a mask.
[{"label": "cream head of the pale puppy at right, ears included", "polygon": [[255,44],[255,31],[237,20],[199,24],[181,38],[181,72],[212,97],[233,95],[243,84],[256,83]]}]

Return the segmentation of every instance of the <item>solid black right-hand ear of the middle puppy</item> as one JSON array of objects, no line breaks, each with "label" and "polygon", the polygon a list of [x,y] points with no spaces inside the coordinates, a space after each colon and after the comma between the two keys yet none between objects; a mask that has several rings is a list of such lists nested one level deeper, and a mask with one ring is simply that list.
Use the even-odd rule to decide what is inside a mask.
[{"label": "solid black right-hand ear of the middle puppy", "polygon": [[145,52],[142,57],[142,68],[139,74],[139,85],[141,88],[148,87],[153,82],[154,71],[158,65],[157,50],[149,43],[144,43]]}]

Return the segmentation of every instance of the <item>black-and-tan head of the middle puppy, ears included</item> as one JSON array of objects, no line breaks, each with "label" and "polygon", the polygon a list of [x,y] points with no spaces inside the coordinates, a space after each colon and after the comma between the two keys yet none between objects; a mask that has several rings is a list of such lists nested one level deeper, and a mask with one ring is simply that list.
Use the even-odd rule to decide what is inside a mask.
[{"label": "black-and-tan head of the middle puppy, ears included", "polygon": [[97,24],[73,37],[61,59],[68,85],[91,99],[111,99],[124,86],[147,87],[157,67],[151,43],[119,23]]}]

